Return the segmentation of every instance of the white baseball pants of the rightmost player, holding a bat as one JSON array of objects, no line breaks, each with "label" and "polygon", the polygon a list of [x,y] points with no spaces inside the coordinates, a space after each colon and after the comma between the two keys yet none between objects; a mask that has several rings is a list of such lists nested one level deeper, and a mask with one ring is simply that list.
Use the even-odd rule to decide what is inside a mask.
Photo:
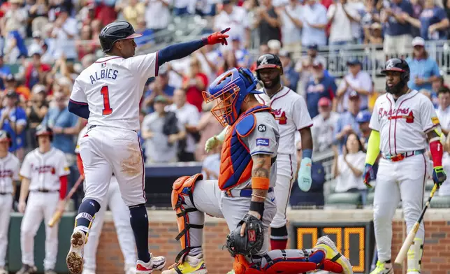
[{"label": "white baseball pants of the rightmost player, holding a bat", "polygon": [[[391,259],[392,219],[400,199],[405,214],[407,233],[419,219],[428,176],[427,161],[424,154],[407,157],[397,162],[383,158],[379,161],[373,202],[375,240],[377,241],[379,261]],[[423,240],[424,236],[425,230],[422,222],[416,238]],[[408,264],[412,260],[408,259]],[[418,261],[420,257],[414,260]]]}]

